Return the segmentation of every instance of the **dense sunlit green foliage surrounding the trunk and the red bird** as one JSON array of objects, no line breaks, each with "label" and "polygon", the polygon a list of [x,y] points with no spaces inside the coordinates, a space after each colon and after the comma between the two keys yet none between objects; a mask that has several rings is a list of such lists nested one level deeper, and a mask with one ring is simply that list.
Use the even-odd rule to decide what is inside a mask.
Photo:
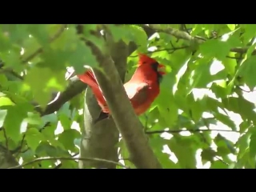
[{"label": "dense sunlit green foliage surrounding the trunk and the red bird", "polygon": [[[166,66],[161,94],[139,117],[162,167],[255,168],[256,25],[84,26],[78,34],[76,25],[0,25],[0,167],[18,165],[6,162],[7,151],[18,167],[78,168],[84,92],[47,107],[70,87],[67,67],[98,67],[83,38],[106,51],[91,33],[103,30],[138,47],[126,81],[138,53]],[[134,167],[122,139],[118,146],[118,163]]]}]

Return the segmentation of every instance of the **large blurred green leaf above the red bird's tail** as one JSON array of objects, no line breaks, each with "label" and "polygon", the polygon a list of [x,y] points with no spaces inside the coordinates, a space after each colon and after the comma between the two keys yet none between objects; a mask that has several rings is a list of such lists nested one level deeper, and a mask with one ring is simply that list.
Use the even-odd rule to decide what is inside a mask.
[{"label": "large blurred green leaf above the red bird's tail", "polygon": [[84,65],[98,66],[94,54],[85,42],[82,42],[73,26],[64,30],[50,47],[44,49],[41,56],[42,65],[52,70],[66,70],[66,66],[73,66],[79,74],[85,70]]}]

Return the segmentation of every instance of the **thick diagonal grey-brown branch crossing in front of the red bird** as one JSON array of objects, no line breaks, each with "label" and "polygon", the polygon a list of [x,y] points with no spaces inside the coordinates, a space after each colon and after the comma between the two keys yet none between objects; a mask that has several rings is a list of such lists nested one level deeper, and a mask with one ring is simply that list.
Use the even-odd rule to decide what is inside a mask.
[{"label": "thick diagonal grey-brown branch crossing in front of the red bird", "polygon": [[[86,42],[86,44],[96,55],[99,66],[104,71],[94,69],[94,74],[106,98],[114,122],[130,152],[131,161],[137,168],[162,168],[148,145],[142,124],[134,113],[112,59],[108,55],[103,55],[94,43]],[[105,74],[108,74],[107,77]]]}]

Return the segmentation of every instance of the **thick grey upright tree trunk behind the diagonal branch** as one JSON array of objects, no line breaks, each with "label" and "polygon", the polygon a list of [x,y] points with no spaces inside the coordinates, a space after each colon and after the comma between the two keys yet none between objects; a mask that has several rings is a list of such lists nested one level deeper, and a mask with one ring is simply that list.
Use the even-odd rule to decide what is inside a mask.
[{"label": "thick grey upright tree trunk behind the diagonal branch", "polygon": [[[128,47],[124,42],[108,42],[111,56],[122,82],[126,73],[126,58],[129,54]],[[112,118],[105,119],[93,124],[95,118],[98,118],[100,108],[96,102],[91,90],[86,91],[86,102],[84,107],[84,128],[82,130],[82,142],[80,156],[81,158],[103,158],[118,162],[118,138],[119,131]],[[80,168],[111,168],[116,166],[107,162],[79,162]]]}]

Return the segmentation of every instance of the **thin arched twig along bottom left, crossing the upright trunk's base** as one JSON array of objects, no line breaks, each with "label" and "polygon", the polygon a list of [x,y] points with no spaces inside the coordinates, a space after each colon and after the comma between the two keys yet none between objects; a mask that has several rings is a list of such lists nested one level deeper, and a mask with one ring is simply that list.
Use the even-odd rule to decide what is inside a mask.
[{"label": "thin arched twig along bottom left, crossing the upright trunk's base", "polygon": [[126,168],[126,169],[130,169],[129,167],[124,166],[124,165],[122,165],[119,162],[113,162],[113,161],[102,159],[102,158],[62,158],[62,157],[36,158],[33,161],[31,161],[31,162],[25,162],[22,165],[13,166],[13,167],[10,167],[8,169],[18,169],[18,168],[22,168],[23,166],[27,166],[27,165],[33,164],[34,162],[42,162],[42,161],[50,161],[50,160],[66,160],[66,161],[80,160],[80,161],[108,162],[108,163],[112,163],[112,164],[117,165],[117,166],[121,166],[121,167]]}]

